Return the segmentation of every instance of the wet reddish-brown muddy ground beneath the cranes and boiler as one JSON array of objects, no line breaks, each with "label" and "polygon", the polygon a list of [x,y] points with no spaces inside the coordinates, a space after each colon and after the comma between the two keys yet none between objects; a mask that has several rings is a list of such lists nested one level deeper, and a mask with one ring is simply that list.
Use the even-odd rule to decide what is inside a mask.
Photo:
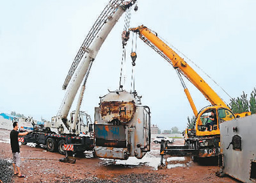
[{"label": "wet reddish-brown muddy ground beneath the cranes and boiler", "polygon": [[[10,131],[0,129],[0,158],[11,161]],[[183,139],[176,139],[180,145]],[[152,150],[143,159],[126,161],[93,158],[92,152],[84,157],[72,157],[76,164],[61,163],[64,157],[47,152],[34,144],[21,145],[21,170],[26,178],[13,175],[14,182],[237,182],[231,177],[217,177],[218,166],[198,164],[185,157],[165,157],[167,168],[159,169],[159,144],[152,143]],[[0,167],[1,168],[1,167]],[[1,170],[3,171],[3,170]]]}]

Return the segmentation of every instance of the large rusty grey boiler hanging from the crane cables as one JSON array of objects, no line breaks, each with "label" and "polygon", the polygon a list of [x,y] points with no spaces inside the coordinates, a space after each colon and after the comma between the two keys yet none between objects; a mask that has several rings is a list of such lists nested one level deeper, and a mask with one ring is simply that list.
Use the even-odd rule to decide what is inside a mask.
[{"label": "large rusty grey boiler hanging from the crane cables", "polygon": [[95,107],[95,155],[108,159],[141,159],[150,151],[150,109],[136,93],[125,90],[100,97]]}]

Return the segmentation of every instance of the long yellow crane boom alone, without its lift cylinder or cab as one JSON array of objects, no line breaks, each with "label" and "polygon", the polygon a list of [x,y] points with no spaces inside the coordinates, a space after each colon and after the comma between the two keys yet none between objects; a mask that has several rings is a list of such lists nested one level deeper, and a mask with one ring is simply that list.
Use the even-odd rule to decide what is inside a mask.
[{"label": "long yellow crane boom alone, without its lift cylinder or cab", "polygon": [[[212,105],[221,105],[228,108],[225,102],[218,96],[214,90],[200,77],[193,68],[191,68],[186,61],[184,61],[179,54],[177,54],[173,49],[171,49],[167,44],[165,44],[160,38],[157,37],[150,29],[145,26],[139,26],[138,28],[131,28],[130,31],[134,31],[140,34],[140,38],[146,43],[151,42],[155,45],[163,55],[167,57],[168,61],[173,65],[173,68],[178,69],[184,76],[186,76],[189,81],[200,90],[200,92],[205,96]],[[156,48],[155,48],[156,51]],[[229,109],[229,108],[228,108]]]}]

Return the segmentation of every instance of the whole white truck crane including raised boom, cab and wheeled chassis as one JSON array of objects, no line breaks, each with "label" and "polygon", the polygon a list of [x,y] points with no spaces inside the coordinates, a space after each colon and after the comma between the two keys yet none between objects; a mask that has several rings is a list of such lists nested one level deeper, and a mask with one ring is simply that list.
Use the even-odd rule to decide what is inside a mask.
[{"label": "whole white truck crane including raised boom, cab and wheeled chassis", "polygon": [[[93,131],[92,120],[84,111],[80,111],[81,102],[88,79],[90,68],[95,60],[100,47],[107,36],[115,26],[116,22],[123,13],[136,3],[136,0],[121,1],[110,0],[100,16],[90,29],[84,39],[76,58],[68,72],[63,84],[63,90],[68,87],[67,93],[61,103],[57,116],[53,116],[51,122],[45,122],[44,127],[35,129],[33,133],[24,138],[24,142],[33,142],[46,145],[47,150],[60,154],[66,154],[67,150],[74,152],[84,152],[84,150],[93,150],[94,137],[90,136]],[[83,84],[82,84],[83,82]],[[81,86],[82,85],[82,86]],[[70,119],[67,119],[70,107],[81,86],[79,100],[76,111],[70,113]]]}]

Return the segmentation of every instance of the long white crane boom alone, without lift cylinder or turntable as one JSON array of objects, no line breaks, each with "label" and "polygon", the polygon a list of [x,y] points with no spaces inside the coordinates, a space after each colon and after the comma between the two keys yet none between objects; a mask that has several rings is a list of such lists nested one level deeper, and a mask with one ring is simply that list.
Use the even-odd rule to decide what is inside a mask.
[{"label": "long white crane boom alone, without lift cylinder or turntable", "polygon": [[[120,17],[125,12],[125,10],[127,8],[129,8],[130,6],[132,6],[132,4],[134,4],[134,2],[135,2],[135,0],[134,0],[134,1],[130,1],[127,4],[114,6],[114,5],[116,5],[116,3],[118,3],[118,1],[113,1],[113,2],[112,1],[113,0],[111,0],[109,2],[110,5],[107,6],[108,8],[109,7],[112,8],[111,9],[112,11],[111,11],[111,13],[104,15],[104,17],[107,18],[106,20],[104,18],[102,18],[104,20],[104,22],[103,22],[104,24],[102,26],[100,26],[100,30],[98,30],[99,33],[98,32],[95,33],[95,34],[97,34],[97,36],[90,37],[90,39],[89,39],[89,41],[90,41],[89,43],[92,42],[92,45],[90,46],[90,48],[86,44],[86,41],[84,41],[83,45],[81,46],[81,48],[79,50],[79,53],[81,53],[81,54],[85,50],[85,52],[87,52],[86,56],[84,56],[81,63],[79,63],[79,62],[83,56],[79,57],[79,60],[75,59],[75,61],[72,64],[72,67],[70,68],[70,72],[68,72],[68,76],[65,80],[65,84],[63,84],[63,89],[65,89],[67,87],[67,84],[69,83],[73,73],[76,70],[76,74],[74,74],[74,76],[72,78],[72,83],[70,83],[68,91],[65,95],[65,98],[63,99],[62,104],[61,104],[60,111],[58,112],[58,116],[60,116],[62,119],[67,118],[68,112],[70,111],[70,107],[72,106],[74,98],[76,97],[76,93],[84,79],[84,76],[88,72],[89,65],[93,60],[95,60],[95,57],[97,56],[97,53],[99,52],[99,49],[102,46],[104,40],[106,40],[106,37],[109,35],[110,31],[113,29],[116,22],[118,21],[118,19],[120,19]],[[105,12],[109,12],[109,10],[105,11]],[[100,22],[102,22],[102,21],[100,21]],[[87,38],[86,38],[86,40],[87,40]],[[78,64],[79,64],[79,67],[77,68]]]}]

